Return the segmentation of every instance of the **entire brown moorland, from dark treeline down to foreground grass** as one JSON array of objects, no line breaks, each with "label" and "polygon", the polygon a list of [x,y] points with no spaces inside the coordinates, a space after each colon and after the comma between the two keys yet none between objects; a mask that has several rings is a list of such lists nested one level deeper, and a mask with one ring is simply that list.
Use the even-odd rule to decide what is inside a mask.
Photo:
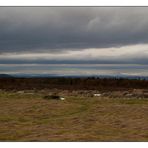
[{"label": "entire brown moorland, from dark treeline down to foreground grass", "polygon": [[147,80],[0,78],[0,141],[148,141],[147,115]]}]

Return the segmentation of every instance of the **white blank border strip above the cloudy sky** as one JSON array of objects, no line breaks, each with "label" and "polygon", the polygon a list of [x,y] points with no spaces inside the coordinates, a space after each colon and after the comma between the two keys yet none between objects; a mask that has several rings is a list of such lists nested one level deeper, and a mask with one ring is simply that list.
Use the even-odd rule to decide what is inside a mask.
[{"label": "white blank border strip above the cloudy sky", "polygon": [[0,0],[0,6],[148,6],[147,0]]}]

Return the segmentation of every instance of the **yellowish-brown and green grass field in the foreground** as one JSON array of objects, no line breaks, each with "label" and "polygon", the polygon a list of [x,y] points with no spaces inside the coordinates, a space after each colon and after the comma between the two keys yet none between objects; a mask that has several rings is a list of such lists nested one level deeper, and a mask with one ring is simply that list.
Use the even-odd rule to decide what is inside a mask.
[{"label": "yellowish-brown and green grass field in the foreground", "polygon": [[0,141],[148,141],[148,99],[0,91]]}]

